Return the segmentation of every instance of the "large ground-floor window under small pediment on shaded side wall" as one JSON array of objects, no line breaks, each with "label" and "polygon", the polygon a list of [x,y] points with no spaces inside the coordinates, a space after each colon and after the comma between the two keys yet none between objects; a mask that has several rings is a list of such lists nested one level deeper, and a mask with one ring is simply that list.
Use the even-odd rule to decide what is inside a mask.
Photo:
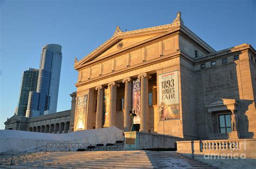
[{"label": "large ground-floor window under small pediment on shaded side wall", "polygon": [[220,128],[220,133],[230,133],[231,132],[230,114],[219,115],[219,128]]}]

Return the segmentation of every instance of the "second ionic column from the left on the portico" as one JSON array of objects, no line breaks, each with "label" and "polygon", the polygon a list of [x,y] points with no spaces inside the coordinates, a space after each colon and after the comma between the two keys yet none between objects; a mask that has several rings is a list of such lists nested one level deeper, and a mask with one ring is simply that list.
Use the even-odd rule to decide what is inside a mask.
[{"label": "second ionic column from the left on the portico", "polygon": [[110,87],[110,105],[109,105],[109,127],[116,125],[117,116],[117,87],[120,85],[116,82],[107,84]]}]

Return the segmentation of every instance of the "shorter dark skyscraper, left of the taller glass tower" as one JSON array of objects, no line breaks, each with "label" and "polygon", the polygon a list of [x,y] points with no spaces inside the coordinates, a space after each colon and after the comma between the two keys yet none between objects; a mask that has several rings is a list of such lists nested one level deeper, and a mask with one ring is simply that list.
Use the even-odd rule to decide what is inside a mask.
[{"label": "shorter dark skyscraper, left of the taller glass tower", "polygon": [[29,92],[36,91],[38,69],[29,68],[23,72],[21,89],[19,90],[19,99],[17,106],[17,115],[25,116],[28,106]]}]

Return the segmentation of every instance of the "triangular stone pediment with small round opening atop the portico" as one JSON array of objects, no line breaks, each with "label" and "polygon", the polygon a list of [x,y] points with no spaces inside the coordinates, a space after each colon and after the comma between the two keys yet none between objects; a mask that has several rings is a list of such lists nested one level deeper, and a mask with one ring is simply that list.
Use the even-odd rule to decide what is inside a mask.
[{"label": "triangular stone pediment with small round opening atop the portico", "polygon": [[134,48],[137,45],[165,36],[168,33],[177,31],[180,28],[179,26],[180,23],[172,23],[151,28],[114,33],[113,37],[89,53],[89,55],[79,61],[75,60],[75,69],[83,67],[83,65],[86,65],[92,60],[104,59],[108,56]]}]

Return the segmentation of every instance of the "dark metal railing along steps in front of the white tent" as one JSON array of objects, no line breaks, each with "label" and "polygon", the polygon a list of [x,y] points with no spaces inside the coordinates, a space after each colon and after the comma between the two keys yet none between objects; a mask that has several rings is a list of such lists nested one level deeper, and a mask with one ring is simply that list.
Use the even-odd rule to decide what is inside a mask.
[{"label": "dark metal railing along steps in front of the white tent", "polygon": [[16,154],[0,154],[0,165],[15,165],[19,161],[35,158],[47,152],[66,151],[123,151],[123,144],[46,143]]}]

